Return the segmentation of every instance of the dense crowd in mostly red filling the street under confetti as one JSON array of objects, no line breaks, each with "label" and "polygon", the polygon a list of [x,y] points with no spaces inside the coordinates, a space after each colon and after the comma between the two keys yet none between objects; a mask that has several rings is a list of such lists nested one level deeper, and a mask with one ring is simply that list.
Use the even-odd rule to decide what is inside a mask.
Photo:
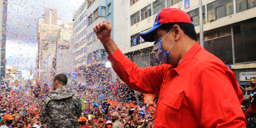
[{"label": "dense crowd in mostly red filling the street under confetti", "polygon": [[[72,85],[83,104],[78,120],[82,128],[110,128],[115,116],[124,128],[152,127],[155,115],[152,108],[155,105],[143,103],[143,94],[135,94],[127,85],[119,82],[99,88],[84,87],[79,82]],[[30,85],[30,90],[25,91],[1,91],[0,125],[3,128],[5,125],[10,128],[47,128],[47,124],[39,121],[39,113],[44,98],[51,91],[52,87],[46,84]],[[118,117],[112,116],[115,112]],[[12,122],[6,121],[8,118]]]}]

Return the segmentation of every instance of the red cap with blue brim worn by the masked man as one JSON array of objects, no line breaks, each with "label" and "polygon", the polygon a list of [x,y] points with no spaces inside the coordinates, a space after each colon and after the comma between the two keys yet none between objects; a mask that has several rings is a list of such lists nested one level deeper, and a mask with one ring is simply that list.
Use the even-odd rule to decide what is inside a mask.
[{"label": "red cap with blue brim worn by the masked man", "polygon": [[153,27],[142,31],[140,36],[147,42],[154,42],[153,31],[167,23],[190,23],[194,25],[186,12],[177,8],[166,8],[157,13]]}]

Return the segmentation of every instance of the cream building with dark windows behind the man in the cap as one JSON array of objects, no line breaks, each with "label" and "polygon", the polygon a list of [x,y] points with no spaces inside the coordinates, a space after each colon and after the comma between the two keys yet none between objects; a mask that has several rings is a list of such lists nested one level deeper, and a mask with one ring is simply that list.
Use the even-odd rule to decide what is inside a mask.
[{"label": "cream building with dark windows behind the man in the cap", "polygon": [[[156,14],[163,8],[187,12],[193,18],[199,42],[198,0],[130,2],[130,41],[123,53],[139,67],[160,64],[153,51],[154,42],[145,42],[139,33],[153,26]],[[203,0],[202,5],[204,48],[231,65],[240,85],[247,84],[256,75],[256,0]]]}]

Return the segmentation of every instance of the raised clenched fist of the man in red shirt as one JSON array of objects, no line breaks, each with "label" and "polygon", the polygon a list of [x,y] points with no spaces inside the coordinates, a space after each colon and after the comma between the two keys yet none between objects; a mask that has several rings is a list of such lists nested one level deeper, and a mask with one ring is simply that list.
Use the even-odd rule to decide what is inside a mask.
[{"label": "raised clenched fist of the man in red shirt", "polygon": [[112,30],[111,22],[104,20],[103,22],[97,24],[93,30],[100,41],[106,41],[110,38],[110,33]]}]

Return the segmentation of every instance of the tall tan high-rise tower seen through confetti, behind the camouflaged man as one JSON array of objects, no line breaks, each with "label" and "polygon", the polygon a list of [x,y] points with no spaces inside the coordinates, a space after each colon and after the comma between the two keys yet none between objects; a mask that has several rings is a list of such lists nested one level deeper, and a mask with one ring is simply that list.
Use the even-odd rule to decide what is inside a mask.
[{"label": "tall tan high-rise tower seen through confetti, behind the camouflaged man", "polygon": [[[37,80],[40,84],[51,84],[57,73],[72,70],[72,23],[62,24],[56,9],[44,9],[37,23]],[[70,54],[71,53],[71,54]]]}]

